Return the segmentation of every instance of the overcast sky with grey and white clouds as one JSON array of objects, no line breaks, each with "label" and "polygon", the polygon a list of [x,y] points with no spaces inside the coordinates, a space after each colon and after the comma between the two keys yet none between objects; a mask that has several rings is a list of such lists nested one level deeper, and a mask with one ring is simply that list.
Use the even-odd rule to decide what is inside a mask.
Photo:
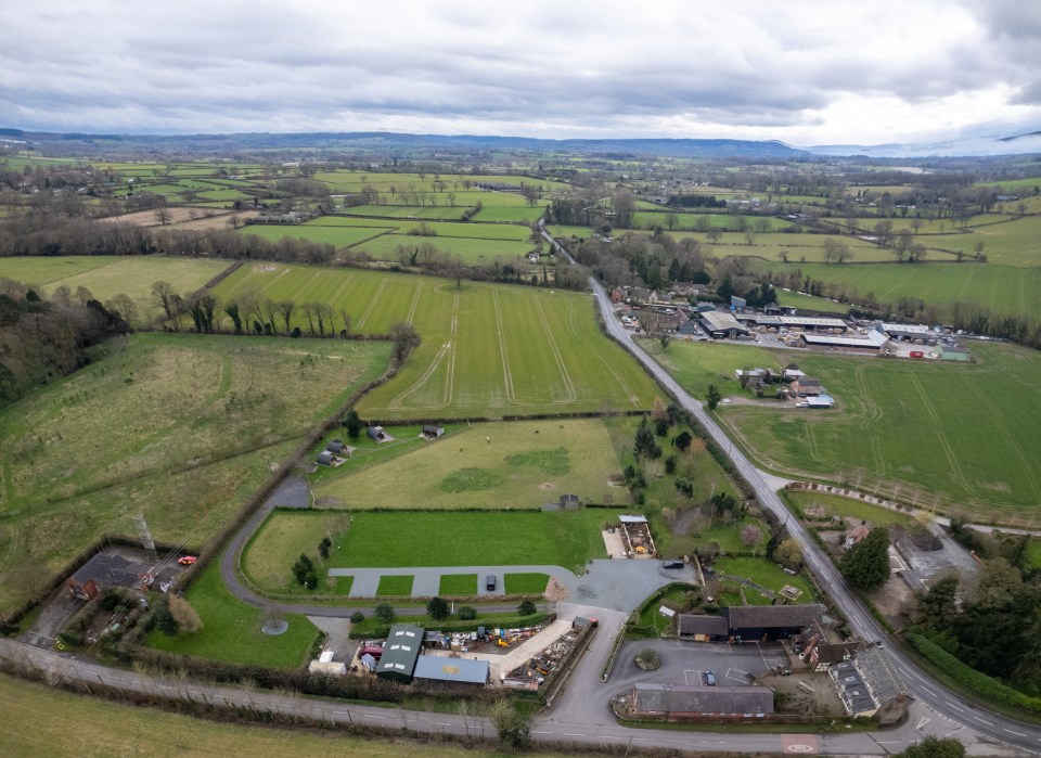
[{"label": "overcast sky with grey and white clouds", "polygon": [[728,137],[1041,129],[1036,0],[28,0],[0,126]]}]

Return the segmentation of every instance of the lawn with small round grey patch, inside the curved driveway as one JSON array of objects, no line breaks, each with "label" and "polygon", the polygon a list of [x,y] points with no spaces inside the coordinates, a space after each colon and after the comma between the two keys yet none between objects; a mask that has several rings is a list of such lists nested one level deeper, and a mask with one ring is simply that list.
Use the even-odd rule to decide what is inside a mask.
[{"label": "lawn with small round grey patch, inside the curved driveway", "polygon": [[185,599],[198,612],[203,628],[194,634],[167,637],[155,630],[146,644],[178,655],[228,660],[236,664],[295,668],[307,660],[318,628],[306,616],[286,614],[284,634],[260,631],[265,612],[232,595],[220,579],[215,558],[189,588]]}]

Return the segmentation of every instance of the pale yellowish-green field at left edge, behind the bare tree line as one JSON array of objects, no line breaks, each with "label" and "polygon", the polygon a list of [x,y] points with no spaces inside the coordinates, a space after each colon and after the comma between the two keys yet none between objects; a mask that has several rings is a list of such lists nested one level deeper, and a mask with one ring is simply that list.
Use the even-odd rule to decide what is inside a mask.
[{"label": "pale yellowish-green field at left edge, behind the bare tree line", "polygon": [[153,309],[150,303],[153,283],[170,282],[177,292],[188,294],[229,266],[228,260],[165,256],[0,258],[0,277],[44,285],[48,295],[61,285],[67,286],[73,295],[77,287],[85,286],[102,301],[121,293],[137,301],[143,312]]}]

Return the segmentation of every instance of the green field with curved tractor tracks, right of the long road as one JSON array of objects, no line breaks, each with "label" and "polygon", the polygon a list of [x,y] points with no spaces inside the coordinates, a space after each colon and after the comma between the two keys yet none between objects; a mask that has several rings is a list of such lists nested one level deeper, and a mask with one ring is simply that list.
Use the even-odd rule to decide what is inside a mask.
[{"label": "green field with curved tractor tracks, right of the long road", "polygon": [[722,417],[762,466],[1023,525],[1041,501],[1041,354],[972,350],[978,364],[787,354],[833,411],[731,406]]}]

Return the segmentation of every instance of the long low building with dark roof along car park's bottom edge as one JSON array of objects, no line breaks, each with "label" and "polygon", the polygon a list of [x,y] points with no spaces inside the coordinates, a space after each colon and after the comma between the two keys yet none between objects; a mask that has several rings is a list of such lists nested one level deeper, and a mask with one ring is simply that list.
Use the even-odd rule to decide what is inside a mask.
[{"label": "long low building with dark roof along car park's bottom edge", "polygon": [[690,718],[762,718],[773,712],[773,692],[760,686],[686,686],[634,684],[629,695],[632,716],[670,721]]}]

